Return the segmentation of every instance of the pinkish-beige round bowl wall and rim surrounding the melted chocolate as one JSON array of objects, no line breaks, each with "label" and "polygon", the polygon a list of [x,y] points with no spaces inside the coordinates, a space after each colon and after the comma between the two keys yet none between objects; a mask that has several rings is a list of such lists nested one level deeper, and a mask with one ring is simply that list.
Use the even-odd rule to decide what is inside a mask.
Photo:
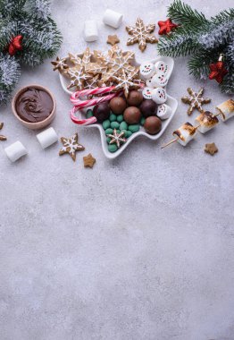
[{"label": "pinkish-beige round bowl wall and rim surrounding the melted chocolate", "polygon": [[[17,98],[19,98],[19,96],[21,95],[22,92],[26,91],[27,89],[42,89],[45,92],[47,92],[47,94],[50,96],[50,98],[52,98],[53,101],[53,109],[51,111],[51,114],[44,120],[41,122],[36,122],[36,123],[29,123],[24,121],[23,119],[21,119],[21,117],[18,115],[17,111],[16,111],[16,100]],[[31,130],[38,130],[38,129],[43,129],[45,128],[49,123],[51,123],[54,119],[55,116],[55,109],[56,109],[56,101],[54,98],[54,95],[52,94],[52,92],[49,89],[46,89],[44,86],[41,85],[37,85],[37,84],[31,84],[28,86],[25,86],[23,88],[21,88],[14,96],[13,98],[13,102],[12,102],[12,109],[13,109],[13,115],[15,115],[15,117],[21,122],[22,125],[24,125],[25,127],[31,129]]]}]

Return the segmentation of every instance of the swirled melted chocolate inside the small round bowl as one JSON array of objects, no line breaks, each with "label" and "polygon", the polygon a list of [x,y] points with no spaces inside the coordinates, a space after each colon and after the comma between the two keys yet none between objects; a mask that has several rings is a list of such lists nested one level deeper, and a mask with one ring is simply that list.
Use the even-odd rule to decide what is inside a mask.
[{"label": "swirled melted chocolate inside the small round bowl", "polygon": [[17,114],[25,122],[44,121],[51,113],[54,103],[44,89],[28,88],[16,99]]}]

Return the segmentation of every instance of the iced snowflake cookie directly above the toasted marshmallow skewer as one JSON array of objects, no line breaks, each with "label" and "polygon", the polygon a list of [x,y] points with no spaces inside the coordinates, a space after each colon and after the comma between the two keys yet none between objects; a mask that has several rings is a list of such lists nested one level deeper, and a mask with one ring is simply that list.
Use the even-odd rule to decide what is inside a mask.
[{"label": "iced snowflake cookie directly above the toasted marshmallow skewer", "polygon": [[189,104],[187,114],[191,115],[193,110],[197,108],[198,111],[203,112],[203,104],[208,104],[211,102],[210,98],[203,98],[204,89],[199,89],[195,92],[193,89],[188,88],[189,97],[182,97],[181,100],[185,104]]}]

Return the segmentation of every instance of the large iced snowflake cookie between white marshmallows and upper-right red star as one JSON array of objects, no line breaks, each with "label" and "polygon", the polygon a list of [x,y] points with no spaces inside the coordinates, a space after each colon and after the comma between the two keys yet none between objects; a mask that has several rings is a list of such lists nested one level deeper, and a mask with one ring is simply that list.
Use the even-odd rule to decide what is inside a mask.
[{"label": "large iced snowflake cookie between white marshmallows and upper-right red star", "polygon": [[158,42],[158,39],[152,34],[155,24],[145,25],[140,18],[137,19],[135,26],[127,26],[126,30],[132,36],[128,39],[127,45],[138,43],[141,52],[145,51],[147,42],[151,44]]}]

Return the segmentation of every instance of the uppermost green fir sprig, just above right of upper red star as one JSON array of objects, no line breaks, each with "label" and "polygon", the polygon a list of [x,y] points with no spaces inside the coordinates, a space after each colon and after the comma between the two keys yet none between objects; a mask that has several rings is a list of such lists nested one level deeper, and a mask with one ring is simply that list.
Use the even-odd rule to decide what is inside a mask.
[{"label": "uppermost green fir sprig, just above right of upper red star", "polygon": [[192,26],[199,27],[208,22],[203,13],[192,10],[188,4],[183,4],[180,0],[175,0],[168,8],[168,16],[184,27],[189,25],[191,30]]}]

